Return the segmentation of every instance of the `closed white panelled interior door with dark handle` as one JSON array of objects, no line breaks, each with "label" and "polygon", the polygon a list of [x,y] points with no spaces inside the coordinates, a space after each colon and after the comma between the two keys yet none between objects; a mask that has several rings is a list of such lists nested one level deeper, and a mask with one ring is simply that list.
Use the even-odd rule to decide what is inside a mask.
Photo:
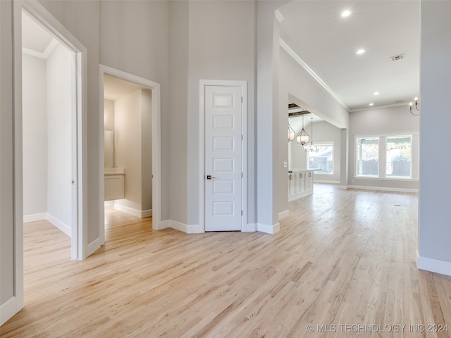
[{"label": "closed white panelled interior door with dark handle", "polygon": [[205,87],[205,231],[242,230],[241,91]]}]

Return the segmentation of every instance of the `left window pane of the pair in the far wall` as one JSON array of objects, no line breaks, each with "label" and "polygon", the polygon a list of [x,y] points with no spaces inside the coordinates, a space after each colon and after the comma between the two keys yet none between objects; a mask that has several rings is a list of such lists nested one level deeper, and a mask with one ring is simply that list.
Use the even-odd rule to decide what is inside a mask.
[{"label": "left window pane of the pair in the far wall", "polygon": [[379,175],[379,138],[357,139],[357,176]]}]

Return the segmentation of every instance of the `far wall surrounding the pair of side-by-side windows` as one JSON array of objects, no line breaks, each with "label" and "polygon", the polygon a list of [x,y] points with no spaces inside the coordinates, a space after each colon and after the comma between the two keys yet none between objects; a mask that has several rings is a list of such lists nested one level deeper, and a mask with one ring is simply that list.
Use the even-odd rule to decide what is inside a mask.
[{"label": "far wall surrounding the pair of side-by-side windows", "polygon": [[[373,108],[350,113],[349,184],[352,187],[384,189],[418,189],[419,177],[419,116],[409,113],[408,106]],[[355,177],[355,137],[378,134],[414,134],[412,139],[412,180],[364,179]]]}]

